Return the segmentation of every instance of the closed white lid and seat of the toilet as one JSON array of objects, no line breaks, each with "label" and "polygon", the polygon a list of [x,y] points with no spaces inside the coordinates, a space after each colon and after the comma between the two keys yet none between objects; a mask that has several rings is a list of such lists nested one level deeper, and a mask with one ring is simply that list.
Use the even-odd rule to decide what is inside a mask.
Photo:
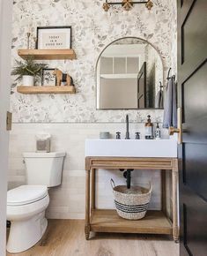
[{"label": "closed white lid and seat of the toilet", "polygon": [[46,185],[21,185],[7,192],[8,206],[22,206],[43,199],[48,195]]}]

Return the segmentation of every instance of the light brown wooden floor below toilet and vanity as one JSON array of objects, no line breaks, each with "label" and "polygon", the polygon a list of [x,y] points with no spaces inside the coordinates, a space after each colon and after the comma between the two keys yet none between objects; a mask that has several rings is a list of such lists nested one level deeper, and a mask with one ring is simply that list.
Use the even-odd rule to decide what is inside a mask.
[{"label": "light brown wooden floor below toilet and vanity", "polygon": [[32,249],[7,256],[179,256],[167,236],[97,233],[85,240],[84,221],[49,220],[48,230]]}]

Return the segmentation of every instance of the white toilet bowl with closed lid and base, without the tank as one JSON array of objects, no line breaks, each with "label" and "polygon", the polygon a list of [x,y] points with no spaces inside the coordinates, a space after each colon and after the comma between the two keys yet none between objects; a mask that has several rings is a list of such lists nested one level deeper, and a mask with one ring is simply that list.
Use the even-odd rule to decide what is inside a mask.
[{"label": "white toilet bowl with closed lid and base, without the tank", "polygon": [[22,185],[8,192],[7,220],[11,222],[8,252],[24,252],[41,239],[48,225],[45,218],[48,203],[47,186]]}]

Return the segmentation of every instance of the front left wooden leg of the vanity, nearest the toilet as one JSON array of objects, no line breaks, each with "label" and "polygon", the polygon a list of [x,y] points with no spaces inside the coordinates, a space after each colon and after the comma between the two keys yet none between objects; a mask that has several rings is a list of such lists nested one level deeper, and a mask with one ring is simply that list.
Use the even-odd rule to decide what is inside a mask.
[{"label": "front left wooden leg of the vanity, nearest the toilet", "polygon": [[90,237],[90,169],[85,173],[85,239]]}]

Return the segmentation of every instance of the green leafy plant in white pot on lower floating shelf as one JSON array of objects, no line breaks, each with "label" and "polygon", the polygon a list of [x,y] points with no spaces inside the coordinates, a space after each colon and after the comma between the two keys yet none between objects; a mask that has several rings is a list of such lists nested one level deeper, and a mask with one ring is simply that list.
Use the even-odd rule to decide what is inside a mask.
[{"label": "green leafy plant in white pot on lower floating shelf", "polygon": [[42,69],[46,68],[47,64],[38,64],[33,60],[33,56],[26,58],[25,61],[15,60],[16,65],[11,71],[11,75],[18,76],[16,80],[22,80],[22,85],[33,87],[34,78],[41,77]]}]

